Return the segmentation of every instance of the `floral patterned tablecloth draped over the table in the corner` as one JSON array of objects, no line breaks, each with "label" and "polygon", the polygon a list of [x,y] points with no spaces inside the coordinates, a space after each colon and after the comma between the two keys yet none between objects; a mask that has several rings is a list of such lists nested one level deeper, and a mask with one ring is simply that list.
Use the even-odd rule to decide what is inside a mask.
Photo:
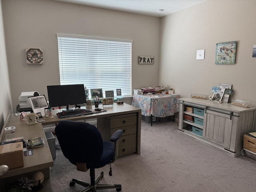
[{"label": "floral patterned tablecloth draped over the table in the corner", "polygon": [[144,116],[166,117],[179,112],[179,96],[137,95],[132,98],[132,106],[141,109]]}]

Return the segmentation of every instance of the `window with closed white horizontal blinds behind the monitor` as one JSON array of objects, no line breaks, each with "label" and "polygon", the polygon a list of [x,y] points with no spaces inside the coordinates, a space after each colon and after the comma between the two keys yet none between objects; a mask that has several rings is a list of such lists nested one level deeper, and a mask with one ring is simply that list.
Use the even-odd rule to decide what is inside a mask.
[{"label": "window with closed white horizontal blinds behind the monitor", "polygon": [[60,84],[132,94],[132,40],[57,34]]}]

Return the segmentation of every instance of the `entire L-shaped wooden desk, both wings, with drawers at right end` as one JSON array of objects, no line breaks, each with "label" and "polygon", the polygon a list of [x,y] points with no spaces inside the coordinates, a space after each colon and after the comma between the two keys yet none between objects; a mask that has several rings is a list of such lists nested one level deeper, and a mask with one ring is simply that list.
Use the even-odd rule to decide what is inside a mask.
[{"label": "entire L-shaped wooden desk, both wings, with drawers at right end", "polygon": [[[118,142],[118,157],[134,153],[139,155],[141,110],[126,103],[120,105],[117,105],[116,103],[113,105],[100,105],[99,108],[107,111],[68,118],[57,117],[56,113],[60,112],[61,109],[52,110],[53,118],[45,119],[44,122],[34,125],[27,125],[26,121],[20,121],[19,116],[9,114],[8,120],[6,121],[7,123],[4,127],[15,126],[15,136],[23,136],[25,140],[28,140],[29,137],[34,138],[37,136],[44,138],[45,146],[33,148],[33,155],[24,157],[23,167],[11,169],[4,176],[0,176],[1,186],[4,186],[5,182],[16,180],[23,175],[28,175],[40,170],[44,173],[45,177],[43,182],[44,188],[40,192],[52,191],[51,186],[49,186],[49,167],[53,166],[53,160],[42,125],[56,124],[61,120],[77,121],[97,118],[97,128],[100,131],[103,140],[110,140],[110,136],[115,130],[122,129],[124,133]],[[0,140],[4,140],[4,129],[2,129],[0,134]],[[0,189],[0,191],[2,190]]]}]

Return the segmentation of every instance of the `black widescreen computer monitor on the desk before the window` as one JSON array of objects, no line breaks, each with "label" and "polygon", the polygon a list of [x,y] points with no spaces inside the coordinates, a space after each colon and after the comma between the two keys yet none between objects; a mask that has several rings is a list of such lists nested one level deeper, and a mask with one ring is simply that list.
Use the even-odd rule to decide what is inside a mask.
[{"label": "black widescreen computer monitor on the desk before the window", "polygon": [[[50,107],[77,105],[86,103],[84,84],[47,86]],[[65,110],[65,109],[62,109]]]}]

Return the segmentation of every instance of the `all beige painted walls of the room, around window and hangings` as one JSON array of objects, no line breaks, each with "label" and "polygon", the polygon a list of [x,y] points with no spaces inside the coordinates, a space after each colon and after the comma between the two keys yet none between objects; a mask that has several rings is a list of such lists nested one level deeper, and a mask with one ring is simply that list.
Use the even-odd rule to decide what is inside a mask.
[{"label": "all beige painted walls of the room, around window and hangings", "polygon": [[[231,98],[250,100],[255,107],[255,7],[254,0],[208,0],[160,19],[52,0],[2,0],[14,112],[21,92],[47,95],[47,85],[59,84],[56,33],[133,39],[133,89],[168,84],[180,97],[190,97],[210,95],[212,86],[229,83]],[[0,37],[4,39],[3,31]],[[216,65],[216,43],[228,41],[238,42],[236,64]],[[2,42],[0,54],[5,54]],[[27,47],[44,49],[43,65],[26,64]],[[205,49],[204,60],[196,60],[200,49]],[[155,63],[139,65],[141,55],[155,56]],[[7,61],[0,59],[0,79],[8,85]],[[29,86],[28,80],[33,81]],[[6,113],[11,104],[4,84],[0,112]]]}]

